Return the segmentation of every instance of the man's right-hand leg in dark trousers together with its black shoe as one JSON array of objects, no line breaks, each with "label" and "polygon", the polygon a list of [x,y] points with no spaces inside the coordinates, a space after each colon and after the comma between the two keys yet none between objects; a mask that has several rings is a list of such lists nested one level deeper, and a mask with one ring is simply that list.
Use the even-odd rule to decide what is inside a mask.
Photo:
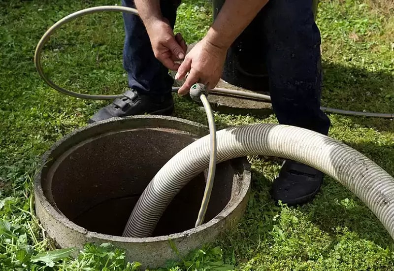
[{"label": "man's right-hand leg in dark trousers together with its black shoe", "polygon": [[[273,0],[260,12],[272,108],[280,124],[328,134],[320,110],[322,68],[320,31],[311,0]],[[272,184],[275,201],[302,204],[320,190],[323,173],[286,160]]]}]

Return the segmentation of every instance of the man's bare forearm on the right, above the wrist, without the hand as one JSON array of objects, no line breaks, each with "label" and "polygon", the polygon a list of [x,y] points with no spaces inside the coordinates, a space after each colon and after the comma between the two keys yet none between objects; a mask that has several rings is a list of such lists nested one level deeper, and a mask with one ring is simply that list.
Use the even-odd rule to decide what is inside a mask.
[{"label": "man's bare forearm on the right, above the wrist, without the hand", "polygon": [[268,0],[226,0],[206,39],[215,46],[229,48],[252,22]]}]

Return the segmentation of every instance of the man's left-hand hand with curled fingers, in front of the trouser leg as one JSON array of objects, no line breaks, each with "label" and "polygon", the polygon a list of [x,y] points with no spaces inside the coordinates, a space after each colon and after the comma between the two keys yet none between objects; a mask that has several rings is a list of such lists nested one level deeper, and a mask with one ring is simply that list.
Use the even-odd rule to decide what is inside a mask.
[{"label": "man's left-hand hand with curled fingers, in front of the trouser leg", "polygon": [[174,35],[168,20],[153,20],[145,23],[155,57],[171,70],[178,70],[176,63],[185,58],[187,44],[180,33]]}]

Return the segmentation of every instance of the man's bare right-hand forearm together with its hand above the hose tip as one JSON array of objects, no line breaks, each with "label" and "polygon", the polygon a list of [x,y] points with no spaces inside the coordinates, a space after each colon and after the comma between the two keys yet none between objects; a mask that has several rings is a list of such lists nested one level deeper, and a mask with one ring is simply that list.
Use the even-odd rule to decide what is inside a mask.
[{"label": "man's bare right-hand forearm together with its hand above the hose tip", "polygon": [[226,52],[236,37],[250,24],[268,0],[226,0],[205,37],[186,56],[175,79],[189,75],[178,90],[187,94],[195,83],[216,86],[222,73]]}]

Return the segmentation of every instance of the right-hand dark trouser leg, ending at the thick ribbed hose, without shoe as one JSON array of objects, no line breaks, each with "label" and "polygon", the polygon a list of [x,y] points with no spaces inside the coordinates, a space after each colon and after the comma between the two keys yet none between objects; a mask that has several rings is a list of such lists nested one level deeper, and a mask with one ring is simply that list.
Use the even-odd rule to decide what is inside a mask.
[{"label": "right-hand dark trouser leg, ending at the thick ribbed hose, without shoe", "polygon": [[269,1],[259,16],[279,123],[327,135],[330,121],[320,110],[321,37],[311,0]]}]

